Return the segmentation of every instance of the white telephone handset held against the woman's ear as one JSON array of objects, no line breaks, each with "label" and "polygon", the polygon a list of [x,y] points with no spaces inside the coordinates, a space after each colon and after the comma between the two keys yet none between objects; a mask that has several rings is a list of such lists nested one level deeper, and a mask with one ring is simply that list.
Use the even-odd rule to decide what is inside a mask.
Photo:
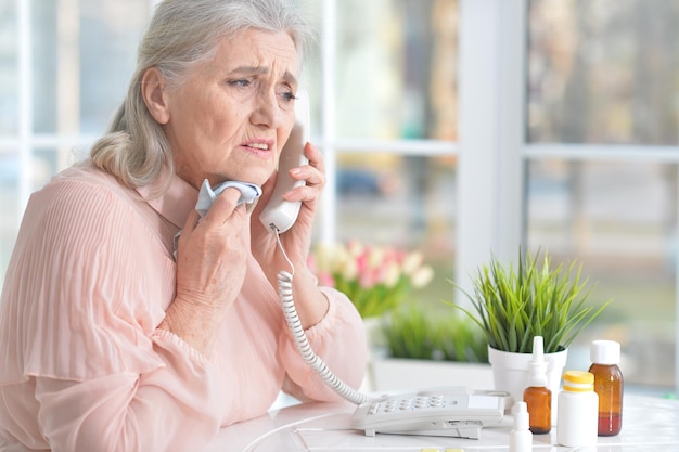
[{"label": "white telephone handset held against the woman's ear", "polygon": [[292,179],[287,171],[309,163],[304,155],[304,146],[309,141],[309,96],[306,91],[298,91],[295,99],[295,126],[281,151],[276,188],[259,215],[259,220],[266,228],[276,228],[279,233],[292,228],[302,206],[299,201],[283,199],[283,194],[305,183]]}]

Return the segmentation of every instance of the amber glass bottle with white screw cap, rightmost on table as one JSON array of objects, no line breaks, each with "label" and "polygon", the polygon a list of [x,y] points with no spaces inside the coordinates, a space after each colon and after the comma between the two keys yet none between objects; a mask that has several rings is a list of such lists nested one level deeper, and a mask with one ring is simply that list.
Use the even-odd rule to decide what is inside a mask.
[{"label": "amber glass bottle with white screw cap, rightmost on table", "polygon": [[623,428],[623,372],[620,345],[613,340],[594,340],[590,346],[594,391],[599,396],[599,436],[607,437]]}]

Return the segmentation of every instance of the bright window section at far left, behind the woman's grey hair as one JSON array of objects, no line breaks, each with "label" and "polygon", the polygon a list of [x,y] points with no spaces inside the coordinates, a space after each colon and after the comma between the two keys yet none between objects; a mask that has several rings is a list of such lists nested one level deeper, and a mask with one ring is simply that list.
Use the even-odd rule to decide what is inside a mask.
[{"label": "bright window section at far left, behind the woman's grey hair", "polygon": [[87,153],[133,70],[151,8],[137,0],[0,5],[0,272],[28,194]]}]

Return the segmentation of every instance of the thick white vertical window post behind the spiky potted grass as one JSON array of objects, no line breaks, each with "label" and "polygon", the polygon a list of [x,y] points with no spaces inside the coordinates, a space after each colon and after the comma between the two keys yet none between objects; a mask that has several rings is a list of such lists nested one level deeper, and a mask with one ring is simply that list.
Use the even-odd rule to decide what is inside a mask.
[{"label": "thick white vertical window post behind the spiky potted grass", "polygon": [[465,289],[490,253],[515,259],[522,242],[526,8],[460,1],[456,281]]}]

